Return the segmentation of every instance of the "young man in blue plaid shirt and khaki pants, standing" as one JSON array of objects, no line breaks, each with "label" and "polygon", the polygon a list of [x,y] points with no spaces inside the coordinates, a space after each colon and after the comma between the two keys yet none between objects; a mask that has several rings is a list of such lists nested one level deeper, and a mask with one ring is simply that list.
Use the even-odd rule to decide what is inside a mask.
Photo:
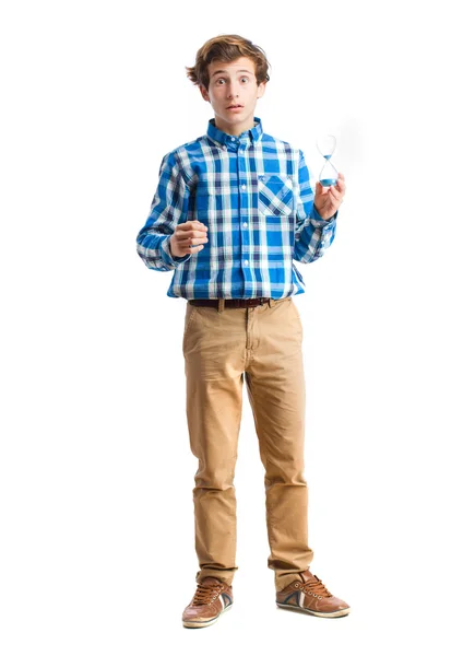
[{"label": "young man in blue plaid shirt and khaki pants, standing", "polygon": [[233,604],[237,570],[233,484],[246,379],[265,468],[276,602],[319,617],[347,604],[309,571],[304,478],[302,326],[293,296],[334,237],[344,176],[313,195],[300,150],[254,116],[269,81],[264,52],[237,35],[206,42],[188,68],[211,104],[206,134],[165,155],[138,253],[174,271],[167,295],[187,298],[187,419],[199,460],[193,489],[195,594],[185,626],[209,626]]}]

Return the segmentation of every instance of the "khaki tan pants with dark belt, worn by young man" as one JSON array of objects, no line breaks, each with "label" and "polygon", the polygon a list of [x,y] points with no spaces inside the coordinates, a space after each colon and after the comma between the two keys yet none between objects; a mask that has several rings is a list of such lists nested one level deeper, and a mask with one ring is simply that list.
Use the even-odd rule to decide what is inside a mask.
[{"label": "khaki tan pants with dark belt, worn by young man", "polygon": [[280,590],[313,557],[304,478],[300,317],[292,297],[219,309],[188,303],[185,318],[187,418],[199,460],[193,489],[197,582],[217,576],[231,585],[237,570],[233,481],[246,379],[265,469],[268,566]]}]

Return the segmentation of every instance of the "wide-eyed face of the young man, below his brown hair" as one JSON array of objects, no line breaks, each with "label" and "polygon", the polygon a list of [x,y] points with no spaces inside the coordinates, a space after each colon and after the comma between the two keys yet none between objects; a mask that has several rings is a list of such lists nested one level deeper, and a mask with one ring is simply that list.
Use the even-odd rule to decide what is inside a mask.
[{"label": "wide-eyed face of the young man, below his brown hair", "polygon": [[211,103],[216,127],[228,134],[240,134],[254,125],[258,98],[264,95],[265,83],[258,86],[252,59],[213,61],[207,67],[210,86],[200,86],[203,98]]}]

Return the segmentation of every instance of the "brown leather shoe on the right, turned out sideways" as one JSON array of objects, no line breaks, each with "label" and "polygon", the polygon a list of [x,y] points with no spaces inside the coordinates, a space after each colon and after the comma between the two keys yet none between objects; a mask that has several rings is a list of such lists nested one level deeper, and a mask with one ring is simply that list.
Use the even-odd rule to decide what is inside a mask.
[{"label": "brown leather shoe on the right, turned out sideways", "polygon": [[333,597],[310,570],[301,572],[298,578],[278,591],[276,604],[280,608],[300,610],[319,618],[341,618],[349,612],[349,606]]}]

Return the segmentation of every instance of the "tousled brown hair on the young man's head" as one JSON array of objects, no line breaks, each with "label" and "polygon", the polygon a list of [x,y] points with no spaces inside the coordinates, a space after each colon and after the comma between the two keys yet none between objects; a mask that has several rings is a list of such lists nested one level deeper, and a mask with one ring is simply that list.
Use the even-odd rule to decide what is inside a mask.
[{"label": "tousled brown hair on the young man's head", "polygon": [[269,61],[265,52],[252,42],[237,34],[221,34],[210,38],[197,52],[194,66],[186,67],[187,77],[207,90],[210,73],[207,66],[213,61],[235,61],[239,57],[248,57],[254,62],[258,85],[269,82]]}]

